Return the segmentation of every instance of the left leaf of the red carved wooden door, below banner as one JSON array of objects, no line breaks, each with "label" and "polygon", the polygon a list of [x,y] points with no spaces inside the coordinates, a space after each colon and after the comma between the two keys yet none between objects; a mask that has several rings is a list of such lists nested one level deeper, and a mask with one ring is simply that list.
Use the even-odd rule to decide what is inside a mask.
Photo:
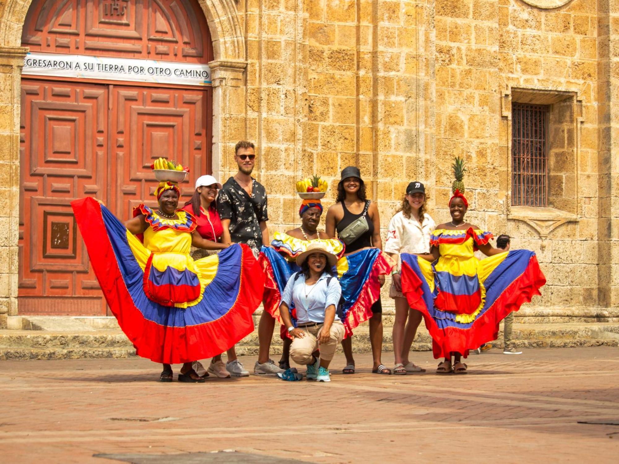
[{"label": "left leaf of the red carved wooden door, below banner", "polygon": [[108,88],[22,80],[21,105],[20,312],[101,314],[70,203],[106,191]]}]

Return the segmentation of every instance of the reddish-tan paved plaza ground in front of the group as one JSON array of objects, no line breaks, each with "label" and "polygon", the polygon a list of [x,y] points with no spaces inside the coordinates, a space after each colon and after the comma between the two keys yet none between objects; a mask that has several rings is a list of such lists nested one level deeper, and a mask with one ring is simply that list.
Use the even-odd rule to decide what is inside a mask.
[{"label": "reddish-tan paved plaza ground in front of the group", "polygon": [[329,384],[162,384],[140,358],[0,361],[0,462],[617,462],[617,348],[489,351],[464,376],[413,355],[428,372],[377,376],[358,354],[344,376],[337,355]]}]

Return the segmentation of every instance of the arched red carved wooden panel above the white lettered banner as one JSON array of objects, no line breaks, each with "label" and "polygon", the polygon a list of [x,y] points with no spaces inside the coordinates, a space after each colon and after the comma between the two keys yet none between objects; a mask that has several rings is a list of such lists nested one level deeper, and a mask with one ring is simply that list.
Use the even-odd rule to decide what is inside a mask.
[{"label": "arched red carved wooden panel above the white lettered banner", "polygon": [[22,45],[50,53],[213,59],[206,17],[195,0],[33,0]]}]

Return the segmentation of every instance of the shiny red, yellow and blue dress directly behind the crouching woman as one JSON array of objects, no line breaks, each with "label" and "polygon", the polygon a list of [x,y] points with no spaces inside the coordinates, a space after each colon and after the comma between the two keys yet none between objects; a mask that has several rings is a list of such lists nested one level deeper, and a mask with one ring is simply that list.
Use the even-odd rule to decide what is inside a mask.
[{"label": "shiny red, yellow and blue dress directly behind the crouching woman", "polygon": [[[279,304],[282,293],[290,276],[299,267],[295,260],[305,252],[309,244],[320,243],[324,249],[337,258],[337,279],[342,287],[342,300],[337,308],[338,316],[346,329],[346,334],[352,335],[352,330],[372,316],[371,306],[380,296],[378,276],[389,273],[391,264],[378,248],[364,249],[344,256],[344,243],[338,239],[301,240],[288,234],[275,232],[270,247],[263,246],[259,262],[265,274],[264,309],[282,324],[279,314]],[[293,325],[296,325],[296,312],[290,307]]]}]

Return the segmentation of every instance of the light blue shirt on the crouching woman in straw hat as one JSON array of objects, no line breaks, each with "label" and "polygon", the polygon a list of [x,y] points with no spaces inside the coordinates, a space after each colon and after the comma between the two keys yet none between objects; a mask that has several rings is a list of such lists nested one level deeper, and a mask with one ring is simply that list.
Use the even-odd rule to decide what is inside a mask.
[{"label": "light blue shirt on the crouching woman in straw hat", "polygon": [[[295,274],[288,279],[284,294],[282,294],[282,303],[286,303],[288,307],[295,304],[297,310],[297,324],[306,324],[308,322],[324,322],[324,313],[327,307],[331,304],[337,305],[342,296],[342,287],[337,278],[331,277],[327,273],[323,273],[314,285],[305,285],[305,275],[301,274],[295,281]],[[329,285],[327,286],[327,281]],[[307,297],[305,294],[307,293]],[[337,312],[335,312],[335,320],[339,320]]]}]

